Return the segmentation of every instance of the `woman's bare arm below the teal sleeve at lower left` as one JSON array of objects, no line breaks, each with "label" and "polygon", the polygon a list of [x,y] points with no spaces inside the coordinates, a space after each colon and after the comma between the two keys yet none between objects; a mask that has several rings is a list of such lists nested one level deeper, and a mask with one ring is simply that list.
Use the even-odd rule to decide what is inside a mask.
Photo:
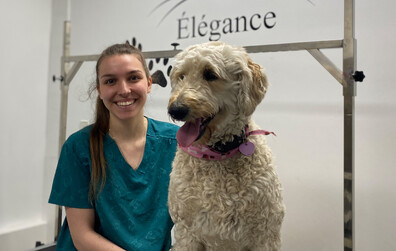
[{"label": "woman's bare arm below the teal sleeve at lower left", "polygon": [[113,244],[94,230],[94,209],[79,209],[66,207],[67,223],[73,244],[79,251],[119,251],[124,250]]}]

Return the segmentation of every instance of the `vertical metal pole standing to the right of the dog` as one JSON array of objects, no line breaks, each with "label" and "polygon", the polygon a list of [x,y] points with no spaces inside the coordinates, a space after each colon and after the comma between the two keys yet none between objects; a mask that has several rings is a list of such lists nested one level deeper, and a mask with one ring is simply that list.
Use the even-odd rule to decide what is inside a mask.
[{"label": "vertical metal pole standing to the right of the dog", "polygon": [[344,95],[344,251],[355,250],[355,96],[356,69],[355,1],[344,1],[343,73]]}]

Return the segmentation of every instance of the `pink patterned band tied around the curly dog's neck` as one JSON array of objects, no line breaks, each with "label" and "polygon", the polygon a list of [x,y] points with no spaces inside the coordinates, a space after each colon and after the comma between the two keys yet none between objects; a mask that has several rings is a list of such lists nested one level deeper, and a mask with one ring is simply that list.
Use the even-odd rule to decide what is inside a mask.
[{"label": "pink patterned band tied around the curly dog's neck", "polygon": [[245,156],[252,155],[254,153],[255,145],[252,142],[247,141],[247,137],[250,135],[269,135],[269,134],[273,134],[276,136],[274,132],[269,132],[266,130],[254,130],[250,132],[248,126],[246,126],[245,128],[246,137],[244,137],[245,141],[241,143],[238,147],[231,149],[227,152],[219,152],[205,145],[195,145],[195,146],[191,145],[188,147],[183,147],[179,144],[179,147],[186,153],[199,159],[224,160],[224,159],[232,158],[239,152]]}]

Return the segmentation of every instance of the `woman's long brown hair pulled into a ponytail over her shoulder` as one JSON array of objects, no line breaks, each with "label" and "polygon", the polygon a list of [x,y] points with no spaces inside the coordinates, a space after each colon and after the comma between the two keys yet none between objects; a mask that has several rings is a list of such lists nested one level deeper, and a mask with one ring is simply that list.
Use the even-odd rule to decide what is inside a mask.
[{"label": "woman's long brown hair pulled into a ponytail over her shoulder", "polygon": [[[92,85],[90,92],[97,90],[99,87],[99,66],[103,59],[114,55],[130,54],[135,55],[142,63],[146,77],[150,76],[143,53],[136,47],[126,42],[124,44],[114,44],[105,49],[96,63],[96,81]],[[96,99],[95,122],[89,136],[89,151],[91,156],[91,181],[89,185],[89,198],[91,202],[98,196],[106,181],[106,159],[103,150],[103,138],[109,131],[109,110],[103,104],[102,99],[98,96]]]}]

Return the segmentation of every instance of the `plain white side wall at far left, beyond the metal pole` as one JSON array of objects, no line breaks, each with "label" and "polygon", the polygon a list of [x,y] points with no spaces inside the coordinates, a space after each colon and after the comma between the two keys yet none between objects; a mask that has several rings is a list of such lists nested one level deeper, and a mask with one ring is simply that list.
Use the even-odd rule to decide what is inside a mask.
[{"label": "plain white side wall at far left, beyond the metal pole", "polygon": [[50,0],[0,2],[0,250],[45,237]]}]

